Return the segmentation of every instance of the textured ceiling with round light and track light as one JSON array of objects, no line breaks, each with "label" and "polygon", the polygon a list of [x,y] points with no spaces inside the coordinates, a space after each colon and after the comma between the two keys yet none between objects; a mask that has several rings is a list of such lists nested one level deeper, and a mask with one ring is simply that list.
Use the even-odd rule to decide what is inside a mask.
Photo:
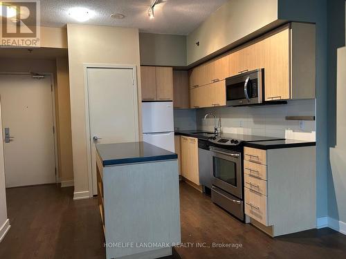
[{"label": "textured ceiling with round light and track light", "polygon": [[[41,0],[41,26],[63,27],[78,23],[67,10],[84,7],[96,15],[83,24],[139,28],[140,32],[188,35],[212,12],[228,0],[158,0],[155,19],[147,10],[153,0]],[[122,13],[124,19],[113,19],[112,13]]]}]

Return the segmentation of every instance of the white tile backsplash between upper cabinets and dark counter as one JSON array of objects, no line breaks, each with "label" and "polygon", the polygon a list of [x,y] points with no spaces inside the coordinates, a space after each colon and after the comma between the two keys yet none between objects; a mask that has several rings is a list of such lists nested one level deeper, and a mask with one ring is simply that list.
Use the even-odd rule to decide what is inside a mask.
[{"label": "white tile backsplash between upper cabinets and dark counter", "polygon": [[213,131],[214,119],[206,113],[215,113],[221,118],[221,131],[282,137],[293,140],[316,141],[316,122],[305,121],[304,130],[299,130],[298,121],[288,121],[286,116],[311,115],[315,113],[315,99],[293,100],[288,104],[253,107],[215,107],[198,110],[175,110],[174,127]]}]

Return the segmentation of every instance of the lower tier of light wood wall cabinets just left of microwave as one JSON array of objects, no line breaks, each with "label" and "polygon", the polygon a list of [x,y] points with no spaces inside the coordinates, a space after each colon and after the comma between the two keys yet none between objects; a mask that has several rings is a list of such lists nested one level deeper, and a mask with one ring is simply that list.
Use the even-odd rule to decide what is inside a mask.
[{"label": "lower tier of light wood wall cabinets just left of microwave", "polygon": [[190,89],[190,107],[202,108],[226,105],[225,80]]}]

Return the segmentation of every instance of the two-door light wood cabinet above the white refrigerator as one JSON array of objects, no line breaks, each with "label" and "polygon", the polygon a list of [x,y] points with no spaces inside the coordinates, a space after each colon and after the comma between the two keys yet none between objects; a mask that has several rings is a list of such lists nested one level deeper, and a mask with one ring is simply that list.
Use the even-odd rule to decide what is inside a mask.
[{"label": "two-door light wood cabinet above the white refrigerator", "polygon": [[173,69],[163,66],[140,66],[143,101],[173,100]]}]

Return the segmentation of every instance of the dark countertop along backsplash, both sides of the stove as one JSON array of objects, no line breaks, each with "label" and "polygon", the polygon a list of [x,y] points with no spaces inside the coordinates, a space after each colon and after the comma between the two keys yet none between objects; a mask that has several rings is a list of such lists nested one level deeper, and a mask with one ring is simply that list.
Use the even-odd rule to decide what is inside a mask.
[{"label": "dark countertop along backsplash, both sides of the stove", "polygon": [[[209,137],[214,136],[211,132],[201,130],[188,130],[188,131],[175,131],[175,135],[183,135],[188,137],[196,137],[199,140],[208,140]],[[255,135],[240,135],[221,133],[220,137],[228,139],[244,140],[244,146],[259,148],[259,149],[276,149],[276,148],[294,148],[300,146],[316,146],[316,142],[309,142],[304,140],[285,140],[278,137],[264,137]]]}]

